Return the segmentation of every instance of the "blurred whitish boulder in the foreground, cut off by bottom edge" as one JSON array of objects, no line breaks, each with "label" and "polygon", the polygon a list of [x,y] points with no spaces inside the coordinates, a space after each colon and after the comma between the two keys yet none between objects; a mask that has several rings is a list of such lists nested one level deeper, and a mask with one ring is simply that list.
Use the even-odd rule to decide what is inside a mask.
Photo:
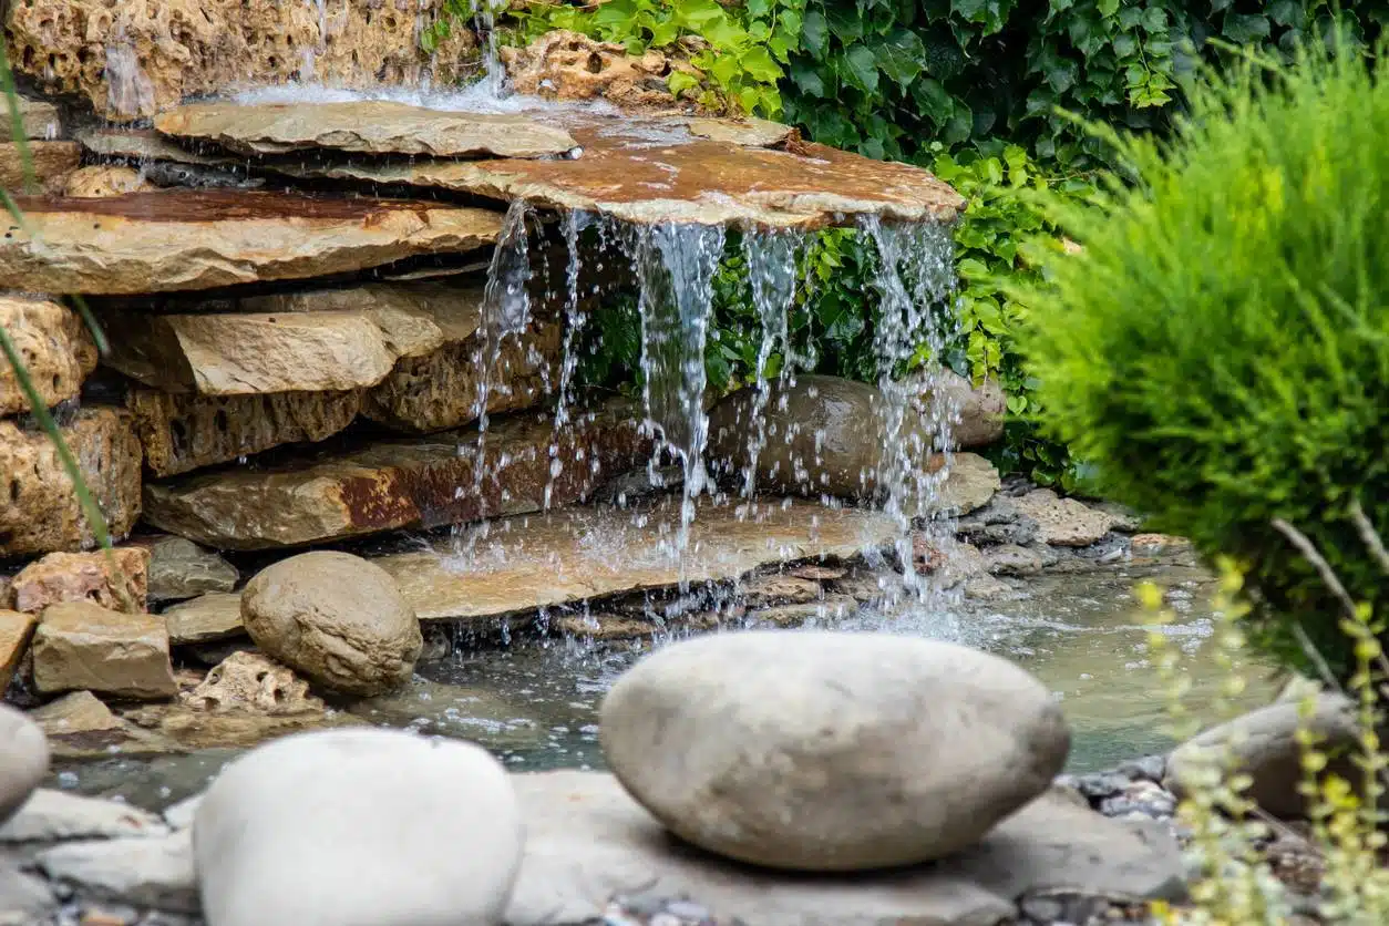
[{"label": "blurred whitish boulder in the foreground, cut off by bottom edge", "polygon": [[521,819],[506,772],[479,747],[319,732],[229,765],[196,811],[193,855],[218,926],[497,923]]}]

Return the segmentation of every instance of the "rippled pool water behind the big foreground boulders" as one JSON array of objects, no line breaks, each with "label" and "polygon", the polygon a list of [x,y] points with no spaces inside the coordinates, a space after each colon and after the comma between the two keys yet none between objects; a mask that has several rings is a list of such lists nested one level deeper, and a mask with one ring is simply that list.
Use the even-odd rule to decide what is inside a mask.
[{"label": "rippled pool water behind the big foreground boulders", "polygon": [[[964,641],[1015,659],[1040,677],[1065,709],[1074,730],[1070,771],[1095,771],[1172,746],[1163,732],[1163,684],[1149,662],[1147,632],[1131,593],[1139,578],[1153,578],[1171,590],[1179,619],[1167,633],[1188,655],[1192,689],[1186,705],[1201,716],[1222,675],[1208,651],[1214,589],[1195,568],[1042,576],[1029,579],[1014,600],[967,605],[951,621],[908,611],[857,626],[918,636],[946,636],[945,628],[958,626]],[[640,653],[638,646],[554,639],[463,654],[422,664],[408,689],[365,701],[351,712],[372,723],[474,740],[514,769],[603,768],[599,705]],[[1245,696],[1247,707],[1272,697],[1271,677],[1254,673]],[[160,807],[201,790],[233,755],[208,750],[158,759],[110,759],[65,769],[56,783]]]}]

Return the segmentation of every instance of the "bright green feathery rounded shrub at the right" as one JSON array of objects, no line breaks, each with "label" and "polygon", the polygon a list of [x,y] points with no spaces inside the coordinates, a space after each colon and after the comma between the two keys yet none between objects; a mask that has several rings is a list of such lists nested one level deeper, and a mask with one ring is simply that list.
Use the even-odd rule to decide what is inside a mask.
[{"label": "bright green feathery rounded shrub at the right", "polygon": [[1256,644],[1310,672],[1310,640],[1342,679],[1340,600],[1275,521],[1389,614],[1360,515],[1389,523],[1386,81],[1347,50],[1203,86],[1170,146],[1121,142],[1133,186],[1050,203],[1086,250],[1021,294],[1056,436],[1245,566]]}]

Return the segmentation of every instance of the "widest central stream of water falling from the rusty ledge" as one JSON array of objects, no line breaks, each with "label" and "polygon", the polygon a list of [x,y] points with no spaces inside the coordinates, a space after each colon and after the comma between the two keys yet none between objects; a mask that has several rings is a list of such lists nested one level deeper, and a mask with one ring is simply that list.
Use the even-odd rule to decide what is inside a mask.
[{"label": "widest central stream of water falling from the rusty ledge", "polygon": [[704,491],[704,346],[714,303],[714,271],[724,254],[724,228],[661,224],[631,229],[642,311],[642,400],[646,429],[661,453],[685,469],[676,551],[689,540],[694,500]]}]

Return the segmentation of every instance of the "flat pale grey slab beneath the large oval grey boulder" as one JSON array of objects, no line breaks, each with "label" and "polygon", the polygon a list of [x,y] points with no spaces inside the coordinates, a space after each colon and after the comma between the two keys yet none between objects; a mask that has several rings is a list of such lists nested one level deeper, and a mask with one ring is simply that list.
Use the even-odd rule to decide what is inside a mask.
[{"label": "flat pale grey slab beneath the large oval grey boulder", "polygon": [[686,897],[718,922],[1013,922],[1018,897],[1065,889],[1121,900],[1183,894],[1170,833],[1128,826],[1045,794],[972,850],[929,865],[843,876],[756,869],[669,836],[597,772],[513,775],[526,826],[510,926],[601,922],[615,897]]}]

